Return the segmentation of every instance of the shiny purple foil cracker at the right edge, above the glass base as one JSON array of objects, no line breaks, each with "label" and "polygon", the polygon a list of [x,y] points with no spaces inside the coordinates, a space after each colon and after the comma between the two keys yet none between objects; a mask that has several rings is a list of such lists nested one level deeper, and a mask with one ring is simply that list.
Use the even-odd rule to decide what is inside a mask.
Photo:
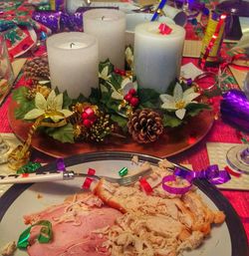
[{"label": "shiny purple foil cracker at the right edge, above the glass base", "polygon": [[242,91],[230,90],[225,93],[220,104],[220,113],[224,122],[249,131],[249,101]]}]

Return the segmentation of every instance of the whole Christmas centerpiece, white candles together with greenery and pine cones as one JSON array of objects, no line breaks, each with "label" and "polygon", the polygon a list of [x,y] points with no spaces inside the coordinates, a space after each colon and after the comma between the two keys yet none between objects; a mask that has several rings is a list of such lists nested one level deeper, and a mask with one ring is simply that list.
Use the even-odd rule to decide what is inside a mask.
[{"label": "whole Christmas centerpiece, white candles together with greenery and pine cones", "polygon": [[[110,38],[116,36],[116,21],[124,23],[117,10],[102,9],[91,19],[91,24],[112,27]],[[184,29],[158,22],[137,26],[134,56],[127,47],[125,69],[124,58],[118,62],[117,55],[108,51],[109,46],[116,51],[117,44],[103,47],[94,32],[51,36],[47,39],[48,60],[41,57],[27,63],[25,76],[32,83],[14,91],[13,100],[18,104],[14,118],[33,125],[25,144],[10,156],[14,165],[29,156],[35,132],[73,144],[112,143],[114,136],[136,144],[163,137],[165,144],[168,130],[184,127],[201,111],[209,110],[195,85],[175,79],[180,72]],[[124,35],[124,31],[119,33]],[[146,46],[141,51],[143,37]]]}]

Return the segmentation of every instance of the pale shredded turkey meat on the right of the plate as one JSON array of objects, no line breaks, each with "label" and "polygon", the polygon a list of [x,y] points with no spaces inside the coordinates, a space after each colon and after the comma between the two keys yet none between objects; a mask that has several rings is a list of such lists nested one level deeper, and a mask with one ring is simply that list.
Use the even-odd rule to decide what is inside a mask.
[{"label": "pale shredded turkey meat on the right of the plate", "polygon": [[[107,237],[104,246],[111,255],[176,256],[197,248],[210,234],[211,224],[224,221],[223,212],[208,208],[196,188],[182,196],[161,188],[161,178],[171,174],[169,164],[163,160],[150,166],[152,173],[146,179],[153,184],[153,192],[149,195],[140,190],[138,182],[127,187],[101,180],[96,186],[94,192],[106,204],[124,213],[115,225],[96,230]],[[174,185],[184,186],[184,182]]]}]

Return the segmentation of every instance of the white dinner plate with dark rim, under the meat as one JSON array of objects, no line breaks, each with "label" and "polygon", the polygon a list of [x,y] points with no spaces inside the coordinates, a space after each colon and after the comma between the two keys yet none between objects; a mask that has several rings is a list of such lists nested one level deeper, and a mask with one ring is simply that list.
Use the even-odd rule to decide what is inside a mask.
[{"label": "white dinner plate with dark rim, under the meat", "polygon": [[[133,153],[96,152],[75,155],[65,159],[67,169],[86,172],[89,167],[95,168],[97,174],[119,176],[118,171],[131,166]],[[137,154],[141,161],[156,163],[158,158]],[[40,171],[55,170],[55,163],[48,164]],[[45,209],[62,202],[66,196],[79,192],[83,181],[76,178],[71,181],[14,185],[0,198],[0,247],[9,241],[17,241],[19,235],[27,228],[23,224],[23,215]],[[197,182],[203,200],[212,209],[223,210],[226,222],[213,226],[211,235],[203,244],[193,251],[184,252],[181,256],[246,256],[247,238],[243,226],[232,206],[223,195],[208,182]],[[42,195],[38,199],[38,194]],[[15,255],[27,256],[26,252],[17,251]]]}]

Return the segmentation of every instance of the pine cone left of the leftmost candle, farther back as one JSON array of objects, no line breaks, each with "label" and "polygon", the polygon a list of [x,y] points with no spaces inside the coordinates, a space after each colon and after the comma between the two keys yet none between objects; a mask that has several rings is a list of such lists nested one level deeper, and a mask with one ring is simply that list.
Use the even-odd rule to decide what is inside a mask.
[{"label": "pine cone left of the leftmost candle, farther back", "polygon": [[27,78],[34,81],[49,80],[49,62],[46,56],[35,57],[26,63],[24,73]]}]

